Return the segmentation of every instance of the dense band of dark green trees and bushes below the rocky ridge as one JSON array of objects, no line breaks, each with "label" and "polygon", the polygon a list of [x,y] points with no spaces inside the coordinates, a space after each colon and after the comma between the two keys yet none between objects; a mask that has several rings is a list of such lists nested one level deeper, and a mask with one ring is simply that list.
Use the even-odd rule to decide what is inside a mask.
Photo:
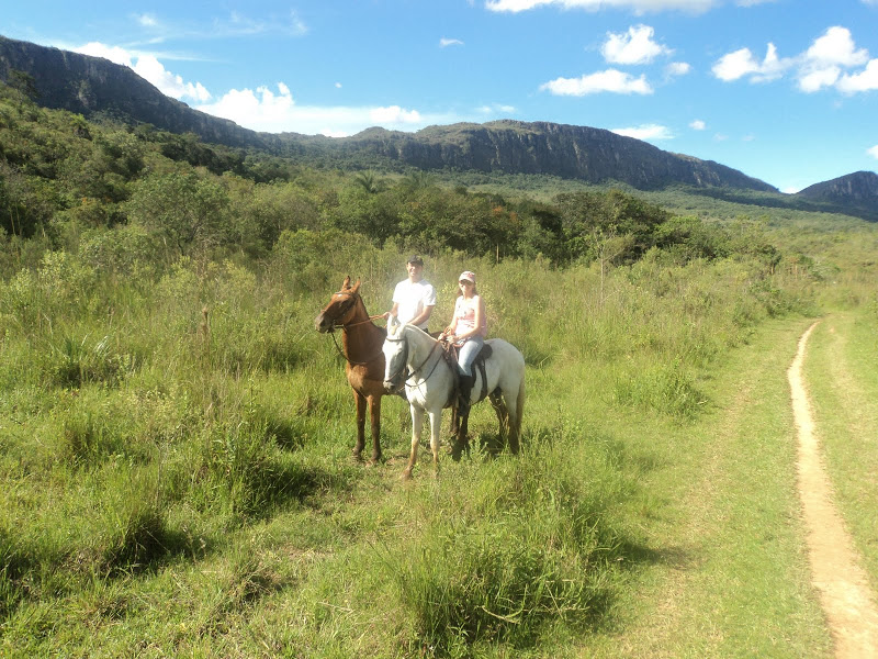
[{"label": "dense band of dark green trees and bushes below the rocky ridge", "polygon": [[376,246],[540,257],[558,267],[631,264],[650,250],[677,264],[746,254],[772,267],[779,259],[756,224],[680,217],[620,190],[537,201],[472,192],[420,170],[322,168],[150,125],[89,122],[5,85],[0,228],[7,252],[14,243],[20,254],[21,241],[34,237],[72,250],[98,241],[115,254],[112,263],[133,245],[164,263],[235,252],[258,259],[284,232],[328,230]]}]

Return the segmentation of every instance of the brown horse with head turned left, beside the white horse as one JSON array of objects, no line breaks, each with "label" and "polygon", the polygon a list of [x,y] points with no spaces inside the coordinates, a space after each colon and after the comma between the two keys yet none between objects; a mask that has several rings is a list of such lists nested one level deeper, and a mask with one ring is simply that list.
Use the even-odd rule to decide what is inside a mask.
[{"label": "brown horse with head turned left, beside the white horse", "polygon": [[[381,460],[381,396],[384,389],[384,354],[381,351],[387,331],[372,323],[360,297],[360,280],[350,286],[345,278],[341,290],[333,297],[320,314],[314,319],[317,332],[333,332],[341,327],[341,347],[348,362],[345,371],[353,389],[357,403],[357,445],[353,456],[362,459],[365,446],[365,406],[372,426],[372,462]],[[375,316],[380,317],[380,316]]]}]

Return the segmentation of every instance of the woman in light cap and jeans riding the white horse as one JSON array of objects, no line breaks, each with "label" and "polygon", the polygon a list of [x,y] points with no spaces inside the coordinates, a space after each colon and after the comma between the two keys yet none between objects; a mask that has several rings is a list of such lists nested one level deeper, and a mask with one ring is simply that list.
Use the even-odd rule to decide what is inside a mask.
[{"label": "woman in light cap and jeans riding the white horse", "polygon": [[458,369],[460,371],[458,414],[465,416],[470,411],[470,394],[475,383],[472,372],[473,361],[485,343],[487,324],[485,301],[475,288],[475,273],[464,270],[458,277],[460,292],[454,303],[451,324],[442,332],[440,339],[458,346]]}]

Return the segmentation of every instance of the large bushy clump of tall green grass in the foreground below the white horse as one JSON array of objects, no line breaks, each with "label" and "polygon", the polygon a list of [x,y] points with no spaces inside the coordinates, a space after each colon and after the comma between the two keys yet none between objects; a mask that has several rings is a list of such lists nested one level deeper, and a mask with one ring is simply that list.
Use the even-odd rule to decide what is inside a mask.
[{"label": "large bushy clump of tall green grass in the foreground below the white horse", "polygon": [[440,655],[481,641],[522,646],[599,617],[620,545],[608,515],[619,479],[576,440],[532,440],[522,459],[481,465],[475,482],[461,474],[446,500],[430,496],[428,523],[393,560],[423,645]]}]

